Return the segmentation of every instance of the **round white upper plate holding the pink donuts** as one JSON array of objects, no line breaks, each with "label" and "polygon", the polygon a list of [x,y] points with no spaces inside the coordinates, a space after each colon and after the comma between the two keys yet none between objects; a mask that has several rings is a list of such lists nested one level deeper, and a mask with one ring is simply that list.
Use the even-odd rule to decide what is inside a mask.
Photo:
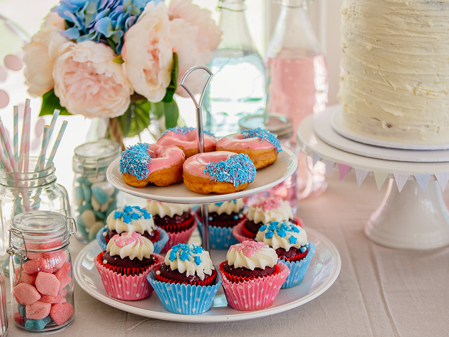
[{"label": "round white upper plate holding the pink donuts", "polygon": [[254,181],[243,191],[230,194],[201,194],[189,190],[183,182],[162,187],[154,184],[142,188],[127,185],[120,174],[119,162],[120,158],[114,160],[106,173],[112,186],[136,197],[177,204],[210,204],[243,198],[281,183],[290,177],[298,166],[296,155],[283,148],[273,164],[257,170]]}]

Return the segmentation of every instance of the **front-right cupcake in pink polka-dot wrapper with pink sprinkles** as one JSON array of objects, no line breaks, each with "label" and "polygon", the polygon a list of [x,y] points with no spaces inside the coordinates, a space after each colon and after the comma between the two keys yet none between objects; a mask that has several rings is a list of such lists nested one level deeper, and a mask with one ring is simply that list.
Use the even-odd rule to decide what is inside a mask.
[{"label": "front-right cupcake in pink polka-dot wrapper with pink sprinkles", "polygon": [[243,241],[229,248],[220,264],[227,304],[253,311],[273,304],[290,270],[263,242]]}]

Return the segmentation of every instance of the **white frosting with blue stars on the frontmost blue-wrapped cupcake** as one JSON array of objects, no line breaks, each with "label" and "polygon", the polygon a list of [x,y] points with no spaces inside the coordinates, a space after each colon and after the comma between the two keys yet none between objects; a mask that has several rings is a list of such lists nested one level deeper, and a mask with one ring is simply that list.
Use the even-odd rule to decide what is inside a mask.
[{"label": "white frosting with blue stars on the frontmost blue-wrapped cupcake", "polygon": [[215,269],[209,252],[191,244],[173,246],[165,256],[165,264],[170,266],[171,270],[186,272],[187,276],[197,275],[201,280],[205,279],[205,274],[212,275]]}]

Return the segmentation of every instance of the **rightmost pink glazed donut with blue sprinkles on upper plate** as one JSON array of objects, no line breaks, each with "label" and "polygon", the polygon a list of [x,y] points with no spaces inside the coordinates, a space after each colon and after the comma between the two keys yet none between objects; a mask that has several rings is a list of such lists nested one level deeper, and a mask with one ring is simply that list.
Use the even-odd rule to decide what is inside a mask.
[{"label": "rightmost pink glazed donut with blue sprinkles on upper plate", "polygon": [[223,137],[217,142],[217,151],[246,154],[260,169],[276,161],[282,146],[274,133],[258,127]]}]

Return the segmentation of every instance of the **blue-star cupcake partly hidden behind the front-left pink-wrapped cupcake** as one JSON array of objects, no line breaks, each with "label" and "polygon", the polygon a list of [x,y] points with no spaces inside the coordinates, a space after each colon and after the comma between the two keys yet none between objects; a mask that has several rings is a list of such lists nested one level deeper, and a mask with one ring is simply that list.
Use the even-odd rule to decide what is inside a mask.
[{"label": "blue-star cupcake partly hidden behind the front-left pink-wrapped cupcake", "polygon": [[125,206],[111,212],[106,219],[106,226],[97,234],[97,241],[105,250],[112,237],[125,232],[136,232],[149,239],[156,253],[168,241],[168,234],[156,227],[152,215],[139,206]]}]

